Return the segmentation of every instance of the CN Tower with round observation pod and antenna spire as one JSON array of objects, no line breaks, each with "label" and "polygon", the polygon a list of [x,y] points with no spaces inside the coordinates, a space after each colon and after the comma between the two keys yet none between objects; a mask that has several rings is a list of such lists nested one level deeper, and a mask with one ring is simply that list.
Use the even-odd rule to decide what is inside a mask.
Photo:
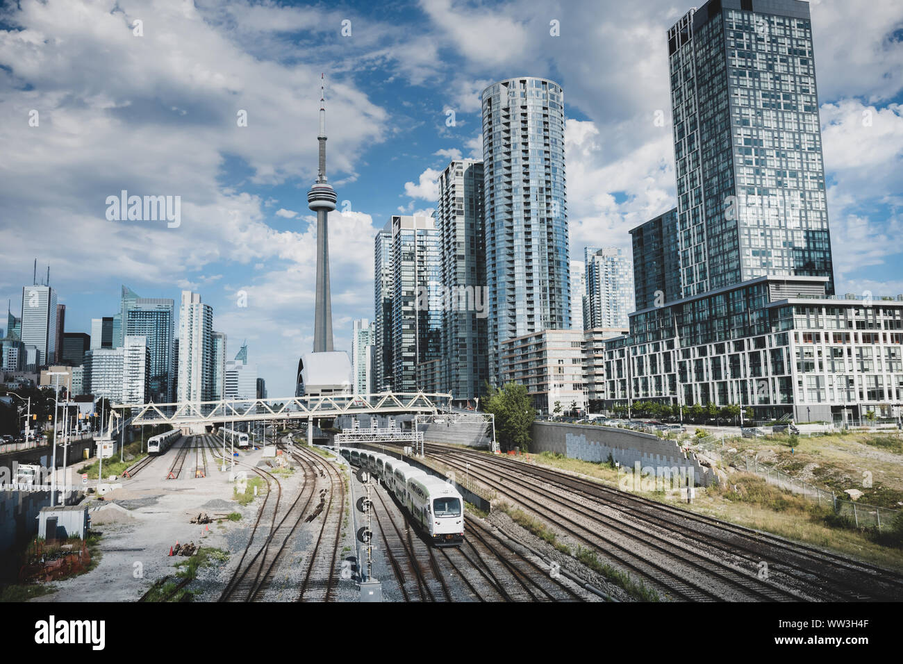
[{"label": "CN Tower with round observation pod and antenna spire", "polygon": [[313,352],[332,351],[332,303],[330,297],[330,236],[327,215],[336,209],[337,196],[326,180],[326,97],[320,76],[320,167],[317,182],[307,192],[307,206],[317,213],[317,304],[313,318]]}]

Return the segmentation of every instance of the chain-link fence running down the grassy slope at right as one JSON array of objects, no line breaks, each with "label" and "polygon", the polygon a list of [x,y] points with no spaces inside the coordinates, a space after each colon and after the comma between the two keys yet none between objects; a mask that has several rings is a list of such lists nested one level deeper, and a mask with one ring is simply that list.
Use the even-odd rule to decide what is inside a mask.
[{"label": "chain-link fence running down the grassy slope at right", "polygon": [[840,498],[836,492],[830,489],[791,477],[786,472],[779,471],[767,463],[761,463],[755,457],[749,457],[749,454],[740,454],[734,443],[741,444],[742,440],[742,438],[725,438],[723,435],[707,435],[700,438],[688,436],[680,443],[701,451],[713,461],[732,463],[736,468],[759,475],[769,484],[815,500],[819,506],[830,506],[834,513],[850,519],[858,528],[878,528],[878,530],[890,528],[891,522],[900,513],[900,510],[890,510]]}]

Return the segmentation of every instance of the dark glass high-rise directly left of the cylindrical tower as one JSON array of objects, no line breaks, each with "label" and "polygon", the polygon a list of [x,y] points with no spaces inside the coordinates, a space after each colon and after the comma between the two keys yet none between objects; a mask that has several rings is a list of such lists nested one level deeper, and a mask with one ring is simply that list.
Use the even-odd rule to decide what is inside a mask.
[{"label": "dark glass high-rise directly left of the cylindrical tower", "polygon": [[435,217],[442,243],[442,362],[434,387],[462,403],[479,397],[489,379],[482,162],[455,160],[442,171]]}]

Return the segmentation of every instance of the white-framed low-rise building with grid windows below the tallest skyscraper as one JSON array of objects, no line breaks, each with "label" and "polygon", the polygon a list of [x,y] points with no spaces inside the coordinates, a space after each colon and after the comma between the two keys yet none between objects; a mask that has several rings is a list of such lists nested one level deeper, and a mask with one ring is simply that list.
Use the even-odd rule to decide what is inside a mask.
[{"label": "white-framed low-rise building with grid windows below the tallest skyscraper", "polygon": [[903,295],[827,295],[824,276],[761,276],[630,314],[606,341],[606,405],[751,407],[797,422],[896,417]]}]

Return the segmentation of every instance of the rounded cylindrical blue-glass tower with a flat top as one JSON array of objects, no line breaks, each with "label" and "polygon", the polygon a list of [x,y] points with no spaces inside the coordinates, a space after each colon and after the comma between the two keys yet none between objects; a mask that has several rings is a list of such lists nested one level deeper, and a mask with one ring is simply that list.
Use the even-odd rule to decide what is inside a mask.
[{"label": "rounded cylindrical blue-glass tower with a flat top", "polygon": [[553,81],[506,79],[482,93],[489,372],[510,338],[571,327],[564,101]]}]

